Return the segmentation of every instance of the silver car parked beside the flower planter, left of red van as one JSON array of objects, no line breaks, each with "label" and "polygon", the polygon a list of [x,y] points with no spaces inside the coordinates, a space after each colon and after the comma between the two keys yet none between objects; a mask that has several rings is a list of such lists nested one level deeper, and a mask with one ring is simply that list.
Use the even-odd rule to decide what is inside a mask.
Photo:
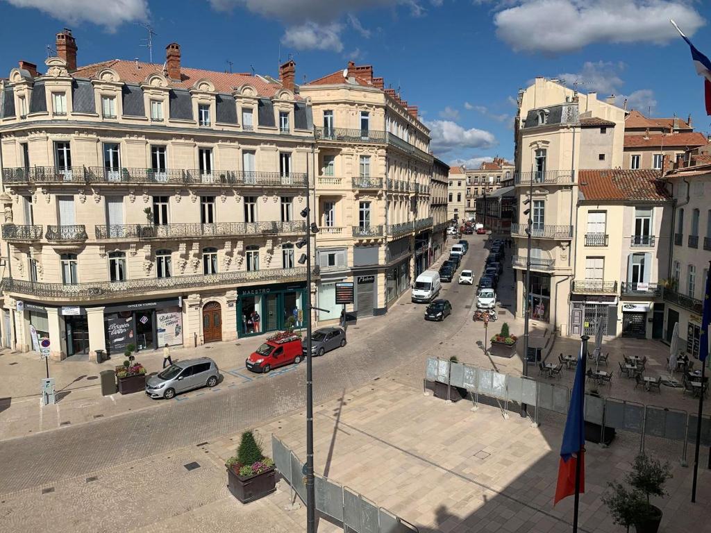
[{"label": "silver car parked beside the flower planter, left of red van", "polygon": [[171,399],[176,394],[200,387],[215,387],[220,370],[210,357],[176,361],[162,372],[146,379],[146,394],[151,398]]}]

